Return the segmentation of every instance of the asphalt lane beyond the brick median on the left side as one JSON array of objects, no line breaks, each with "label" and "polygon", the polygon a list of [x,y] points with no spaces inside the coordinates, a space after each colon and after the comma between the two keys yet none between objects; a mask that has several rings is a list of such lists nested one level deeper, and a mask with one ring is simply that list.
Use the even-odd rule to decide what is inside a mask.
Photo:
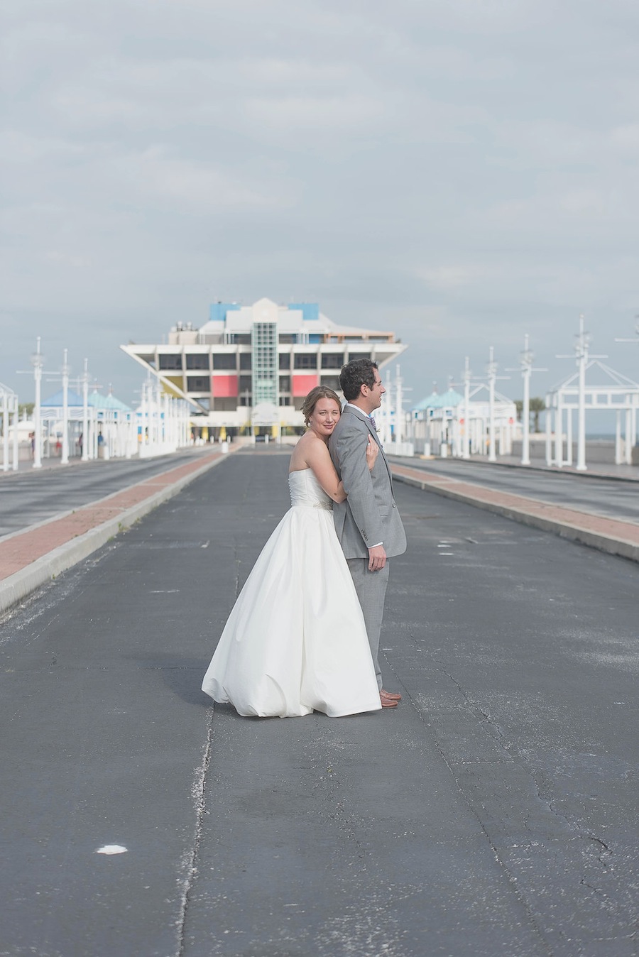
[{"label": "asphalt lane beyond the brick median on the left side", "polygon": [[0,535],[45,522],[192,461],[200,449],[157,458],[112,458],[0,476]]}]

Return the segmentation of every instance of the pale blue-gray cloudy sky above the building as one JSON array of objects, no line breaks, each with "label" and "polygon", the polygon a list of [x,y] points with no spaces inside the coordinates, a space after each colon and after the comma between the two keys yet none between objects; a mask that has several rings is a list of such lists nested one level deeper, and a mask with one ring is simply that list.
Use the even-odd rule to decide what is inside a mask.
[{"label": "pale blue-gray cloudy sky above the building", "polygon": [[130,402],[121,343],[262,296],[395,331],[414,402],[525,333],[542,394],[580,313],[639,379],[636,0],[13,0],[1,27],[21,400],[38,335]]}]

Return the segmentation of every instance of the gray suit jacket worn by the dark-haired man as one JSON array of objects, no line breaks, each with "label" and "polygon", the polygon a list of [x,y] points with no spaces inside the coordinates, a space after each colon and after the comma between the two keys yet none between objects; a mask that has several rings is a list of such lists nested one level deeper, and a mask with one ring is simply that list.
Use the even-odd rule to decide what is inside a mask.
[{"label": "gray suit jacket worn by the dark-haired man", "polygon": [[[372,472],[366,443],[372,435],[380,453]],[[406,551],[406,533],[393,497],[390,468],[370,419],[345,406],[328,443],[333,464],[348,495],[333,504],[335,530],[346,558],[367,558],[368,546],[383,543],[386,555]]]}]

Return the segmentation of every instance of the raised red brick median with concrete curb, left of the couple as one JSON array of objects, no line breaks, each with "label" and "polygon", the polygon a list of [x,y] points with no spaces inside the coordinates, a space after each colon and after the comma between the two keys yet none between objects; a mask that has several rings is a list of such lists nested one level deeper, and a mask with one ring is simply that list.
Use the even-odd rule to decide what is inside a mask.
[{"label": "raised red brick median with concrete curb, left of the couple", "polygon": [[214,452],[0,542],[0,612],[71,568],[223,457]]}]

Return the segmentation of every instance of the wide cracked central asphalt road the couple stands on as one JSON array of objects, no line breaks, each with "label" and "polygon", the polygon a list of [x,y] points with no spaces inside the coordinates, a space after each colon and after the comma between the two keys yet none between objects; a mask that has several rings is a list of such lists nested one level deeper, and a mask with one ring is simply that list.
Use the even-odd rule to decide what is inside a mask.
[{"label": "wide cracked central asphalt road the couple stands on", "polygon": [[639,568],[398,483],[400,706],[213,712],[287,464],[230,456],[0,626],[0,955],[636,955]]}]

